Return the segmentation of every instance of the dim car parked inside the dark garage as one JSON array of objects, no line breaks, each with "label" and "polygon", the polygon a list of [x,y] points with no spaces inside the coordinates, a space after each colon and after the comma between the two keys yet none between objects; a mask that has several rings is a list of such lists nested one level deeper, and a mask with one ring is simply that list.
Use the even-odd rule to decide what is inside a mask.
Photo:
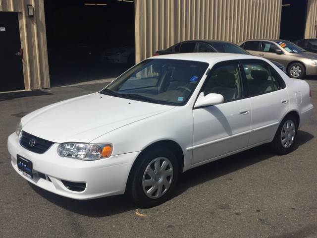
[{"label": "dim car parked inside the dark garage", "polygon": [[123,46],[107,49],[101,56],[101,61],[107,63],[135,63],[134,47]]}]

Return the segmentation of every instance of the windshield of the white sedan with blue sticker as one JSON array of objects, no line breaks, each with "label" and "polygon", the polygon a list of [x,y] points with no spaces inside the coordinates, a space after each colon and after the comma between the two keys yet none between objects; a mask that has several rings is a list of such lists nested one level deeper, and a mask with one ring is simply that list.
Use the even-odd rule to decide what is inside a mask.
[{"label": "windshield of the white sedan with blue sticker", "polygon": [[190,60],[149,59],[135,65],[100,93],[151,103],[182,106],[209,64]]}]

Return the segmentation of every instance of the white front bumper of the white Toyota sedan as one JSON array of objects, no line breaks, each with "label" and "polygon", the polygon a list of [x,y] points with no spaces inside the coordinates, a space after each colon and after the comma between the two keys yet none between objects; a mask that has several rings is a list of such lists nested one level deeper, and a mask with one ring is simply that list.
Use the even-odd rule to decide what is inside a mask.
[{"label": "white front bumper of the white Toyota sedan", "polygon": [[[37,154],[23,148],[15,133],[8,137],[7,146],[12,167],[20,176],[50,192],[74,199],[123,194],[133,162],[140,153],[132,152],[101,160],[83,161],[58,156],[58,144],[53,144],[44,154]],[[33,179],[18,171],[17,155],[32,161]],[[45,177],[40,177],[40,174]],[[86,183],[86,187],[80,192],[72,191],[62,180]]]}]

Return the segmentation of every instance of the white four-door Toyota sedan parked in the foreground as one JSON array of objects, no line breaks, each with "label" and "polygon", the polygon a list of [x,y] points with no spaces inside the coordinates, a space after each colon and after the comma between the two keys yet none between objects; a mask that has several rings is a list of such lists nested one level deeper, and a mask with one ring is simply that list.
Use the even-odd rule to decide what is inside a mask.
[{"label": "white four-door Toyota sedan parked in the foreground", "polygon": [[196,166],[264,143],[291,152],[312,110],[309,85],[263,58],[164,55],[26,115],[7,145],[14,170],[48,191],[155,206]]}]

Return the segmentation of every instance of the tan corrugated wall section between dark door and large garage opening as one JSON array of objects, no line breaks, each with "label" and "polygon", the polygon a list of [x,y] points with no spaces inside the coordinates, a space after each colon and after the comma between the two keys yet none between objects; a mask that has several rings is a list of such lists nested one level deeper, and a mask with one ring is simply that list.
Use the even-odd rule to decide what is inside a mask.
[{"label": "tan corrugated wall section between dark door and large garage opening", "polygon": [[[33,5],[34,17],[28,16],[27,4]],[[0,11],[18,12],[25,89],[50,87],[44,1],[0,0]]]}]

